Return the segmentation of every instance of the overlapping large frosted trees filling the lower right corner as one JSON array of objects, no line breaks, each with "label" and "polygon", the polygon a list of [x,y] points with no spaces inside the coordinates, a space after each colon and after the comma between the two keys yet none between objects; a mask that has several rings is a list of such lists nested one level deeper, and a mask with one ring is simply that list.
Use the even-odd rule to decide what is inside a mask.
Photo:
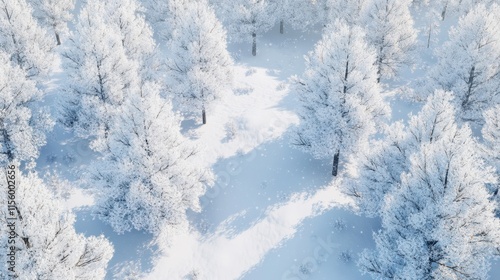
[{"label": "overlapping large frosted trees filling the lower right corner", "polygon": [[344,184],[362,212],[382,218],[363,272],[376,279],[486,279],[500,248],[500,219],[488,186],[496,184],[482,145],[459,126],[450,92],[388,128],[357,155]]}]

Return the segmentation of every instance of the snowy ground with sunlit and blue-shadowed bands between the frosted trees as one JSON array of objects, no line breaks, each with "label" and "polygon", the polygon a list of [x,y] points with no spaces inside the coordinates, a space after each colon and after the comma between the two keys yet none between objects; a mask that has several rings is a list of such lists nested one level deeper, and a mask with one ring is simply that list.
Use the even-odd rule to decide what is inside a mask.
[{"label": "snowy ground with sunlit and blue-shadowed bands between the frosted trees", "polygon": [[[352,214],[350,198],[332,182],[331,162],[291,148],[286,136],[298,123],[288,79],[303,72],[303,56],[319,38],[319,32],[280,35],[275,28],[259,40],[257,57],[250,44],[230,44],[237,63],[234,95],[207,112],[207,125],[188,121],[183,130],[198,142],[199,162],[212,166],[217,182],[201,198],[203,211],[189,213],[192,230],[177,236],[168,251],[156,253],[148,234],[113,233],[92,219],[92,197],[71,191],[66,205],[76,211],[77,231],[104,234],[114,244],[108,279],[121,279],[120,269],[142,270],[145,279],[182,279],[192,272],[217,280],[368,279],[355,259],[374,246],[371,234],[379,221]],[[405,76],[422,75],[421,67]],[[404,78],[397,83],[407,84]],[[49,96],[47,103],[56,99]],[[398,98],[391,104],[393,120],[419,108]],[[87,144],[56,127],[39,170],[77,180],[95,158]],[[491,273],[500,275],[498,268]]]}]

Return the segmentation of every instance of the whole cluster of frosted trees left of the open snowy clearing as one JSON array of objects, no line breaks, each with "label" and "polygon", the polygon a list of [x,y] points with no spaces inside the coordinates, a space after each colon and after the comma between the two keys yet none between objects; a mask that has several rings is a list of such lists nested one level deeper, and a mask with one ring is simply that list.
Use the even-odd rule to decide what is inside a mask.
[{"label": "whole cluster of frosted trees left of the open snowy clearing", "polygon": [[[213,182],[194,162],[196,147],[180,133],[176,111],[201,113],[205,124],[231,86],[225,29],[207,1],[169,1],[169,12],[156,15],[168,23],[164,56],[135,0],[86,1],[72,32],[73,0],[0,5],[0,162],[26,166],[17,177],[16,276],[103,278],[111,244],[77,234],[74,216],[30,163],[55,124],[41,106],[54,62],[60,56],[67,75],[58,119],[100,154],[84,178],[95,191],[95,214],[119,233],[159,234],[183,225],[187,209],[199,211]],[[37,232],[40,225],[46,230]]]}]

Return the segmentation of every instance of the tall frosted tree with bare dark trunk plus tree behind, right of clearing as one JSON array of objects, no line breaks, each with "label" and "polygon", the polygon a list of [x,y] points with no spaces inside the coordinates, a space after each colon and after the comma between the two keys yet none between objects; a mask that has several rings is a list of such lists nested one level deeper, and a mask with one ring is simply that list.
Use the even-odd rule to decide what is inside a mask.
[{"label": "tall frosted tree with bare dark trunk plus tree behind, right of clearing", "polygon": [[[411,64],[416,32],[408,1],[328,4],[330,17],[337,19],[324,28],[303,77],[294,82],[303,110],[293,144],[316,158],[333,157],[337,176],[340,155],[361,149],[390,115],[380,81]],[[337,16],[346,7],[353,14]]]}]

